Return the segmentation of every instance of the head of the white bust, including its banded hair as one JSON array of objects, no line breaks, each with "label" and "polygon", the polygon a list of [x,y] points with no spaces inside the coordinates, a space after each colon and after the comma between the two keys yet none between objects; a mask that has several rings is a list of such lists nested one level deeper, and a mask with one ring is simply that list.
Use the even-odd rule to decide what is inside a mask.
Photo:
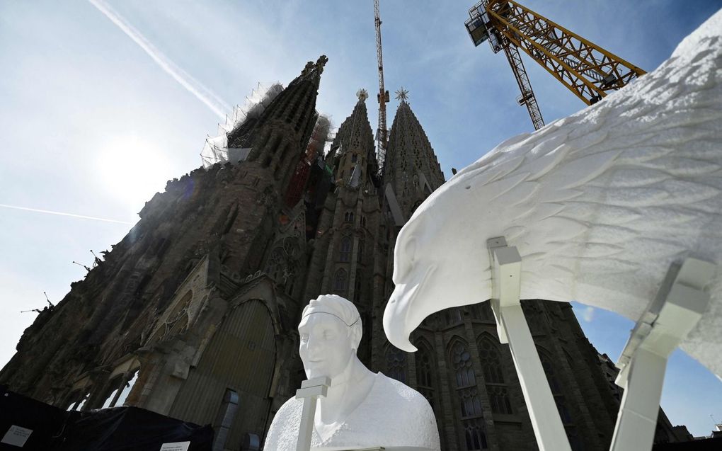
[{"label": "head of the white bust, including its banded hair", "polygon": [[343,297],[326,294],[311,299],[298,325],[299,354],[308,378],[344,372],[361,341],[361,317],[355,305]]}]

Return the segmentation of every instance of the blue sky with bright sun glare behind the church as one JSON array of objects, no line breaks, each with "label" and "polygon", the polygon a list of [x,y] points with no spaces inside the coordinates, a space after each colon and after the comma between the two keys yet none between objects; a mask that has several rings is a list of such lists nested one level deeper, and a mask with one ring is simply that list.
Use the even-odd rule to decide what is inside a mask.
[{"label": "blue sky with bright sun glare behind the church", "polygon": [[[0,365],[47,292],[58,302],[118,242],[165,181],[201,165],[219,115],[162,69],[205,87],[214,104],[243,103],[257,82],[287,84],[329,56],[317,108],[338,125],[355,92],[378,90],[373,1],[110,1],[156,60],[88,1],[0,0]],[[474,48],[472,1],[382,0],[386,87],[403,86],[447,178],[496,144],[531,131],[501,54]],[[526,6],[651,71],[722,1],[526,0]],[[159,56],[162,55],[162,56]],[[547,123],[584,107],[529,58]],[[392,96],[393,98],[393,96]],[[369,100],[376,126],[375,102]],[[213,102],[212,102],[213,103]],[[391,102],[388,123],[397,103]],[[10,208],[113,219],[103,222]],[[575,305],[588,337],[619,356],[632,322]],[[709,434],[722,420],[722,383],[686,354],[671,357],[662,406],[673,424]]]}]

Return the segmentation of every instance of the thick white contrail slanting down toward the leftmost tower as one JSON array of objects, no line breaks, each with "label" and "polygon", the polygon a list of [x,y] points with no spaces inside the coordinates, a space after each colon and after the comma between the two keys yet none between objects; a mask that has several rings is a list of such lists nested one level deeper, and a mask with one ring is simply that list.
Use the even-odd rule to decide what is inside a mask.
[{"label": "thick white contrail slanting down toward the leftmost tower", "polygon": [[225,120],[226,112],[231,110],[229,105],[223,102],[223,100],[219,99],[219,97],[215,95],[210,89],[204,87],[201,82],[194,79],[191,74],[188,74],[188,72],[176,66],[173,61],[170,61],[170,59],[165,56],[160,50],[158,50],[155,45],[149,43],[149,41],[145,38],[144,35],[141,34],[141,32],[136,30],[133,25],[130,25],[126,21],[126,19],[123,19],[120,14],[113,11],[113,9],[108,6],[108,4],[105,4],[105,1],[88,1],[90,1],[90,4],[92,4],[92,6],[95,6],[98,11],[105,14],[105,17],[108,17],[111,22],[118,25],[118,28],[120,28],[126,35],[128,35],[129,38],[134,40],[136,44],[140,45],[140,48],[142,48],[145,53],[148,54],[148,56],[153,58],[153,61],[155,61],[158,66],[160,66],[160,69],[163,69],[166,73],[168,73],[168,75],[172,76],[176,82],[180,83],[182,87],[188,89],[188,92],[196,96],[196,98],[203,102],[206,107],[210,108],[214,113],[219,115],[220,118]]}]

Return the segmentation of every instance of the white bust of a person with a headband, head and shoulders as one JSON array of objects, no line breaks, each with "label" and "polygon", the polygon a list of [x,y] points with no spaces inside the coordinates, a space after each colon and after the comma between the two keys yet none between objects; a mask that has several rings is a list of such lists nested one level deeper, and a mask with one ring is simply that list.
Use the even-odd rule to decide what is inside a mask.
[{"label": "white bust of a person with a headband, head and shoulders", "polygon": [[[417,391],[370,372],[356,356],[361,318],[352,302],[334,294],[312,299],[298,325],[306,376],[330,377],[316,401],[312,450],[386,447],[440,450],[431,406]],[[284,403],[271,423],[264,450],[296,451],[303,400]]]}]

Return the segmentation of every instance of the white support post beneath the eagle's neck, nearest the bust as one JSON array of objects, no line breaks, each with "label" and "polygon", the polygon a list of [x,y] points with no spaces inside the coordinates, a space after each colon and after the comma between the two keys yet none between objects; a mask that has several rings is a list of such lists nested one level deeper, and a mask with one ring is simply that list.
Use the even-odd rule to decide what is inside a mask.
[{"label": "white support post beneath the eagle's neck, nearest the bust", "polygon": [[570,451],[557,403],[521,310],[521,256],[515,247],[506,245],[504,237],[487,240],[487,248],[492,265],[490,302],[499,340],[509,343],[536,443],[540,451]]}]

